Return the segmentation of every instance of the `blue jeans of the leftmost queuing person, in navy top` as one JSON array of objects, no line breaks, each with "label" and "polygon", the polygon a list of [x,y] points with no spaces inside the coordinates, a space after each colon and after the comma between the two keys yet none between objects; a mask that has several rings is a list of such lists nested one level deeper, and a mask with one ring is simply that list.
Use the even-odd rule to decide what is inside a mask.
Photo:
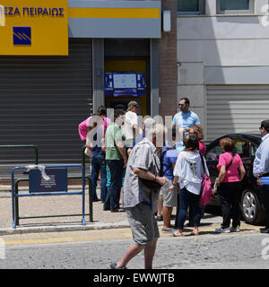
[{"label": "blue jeans of the leftmost queuing person, in navy top", "polygon": [[91,194],[92,200],[97,200],[96,186],[100,172],[100,200],[105,201],[107,196],[107,171],[105,154],[92,154],[91,157]]}]

